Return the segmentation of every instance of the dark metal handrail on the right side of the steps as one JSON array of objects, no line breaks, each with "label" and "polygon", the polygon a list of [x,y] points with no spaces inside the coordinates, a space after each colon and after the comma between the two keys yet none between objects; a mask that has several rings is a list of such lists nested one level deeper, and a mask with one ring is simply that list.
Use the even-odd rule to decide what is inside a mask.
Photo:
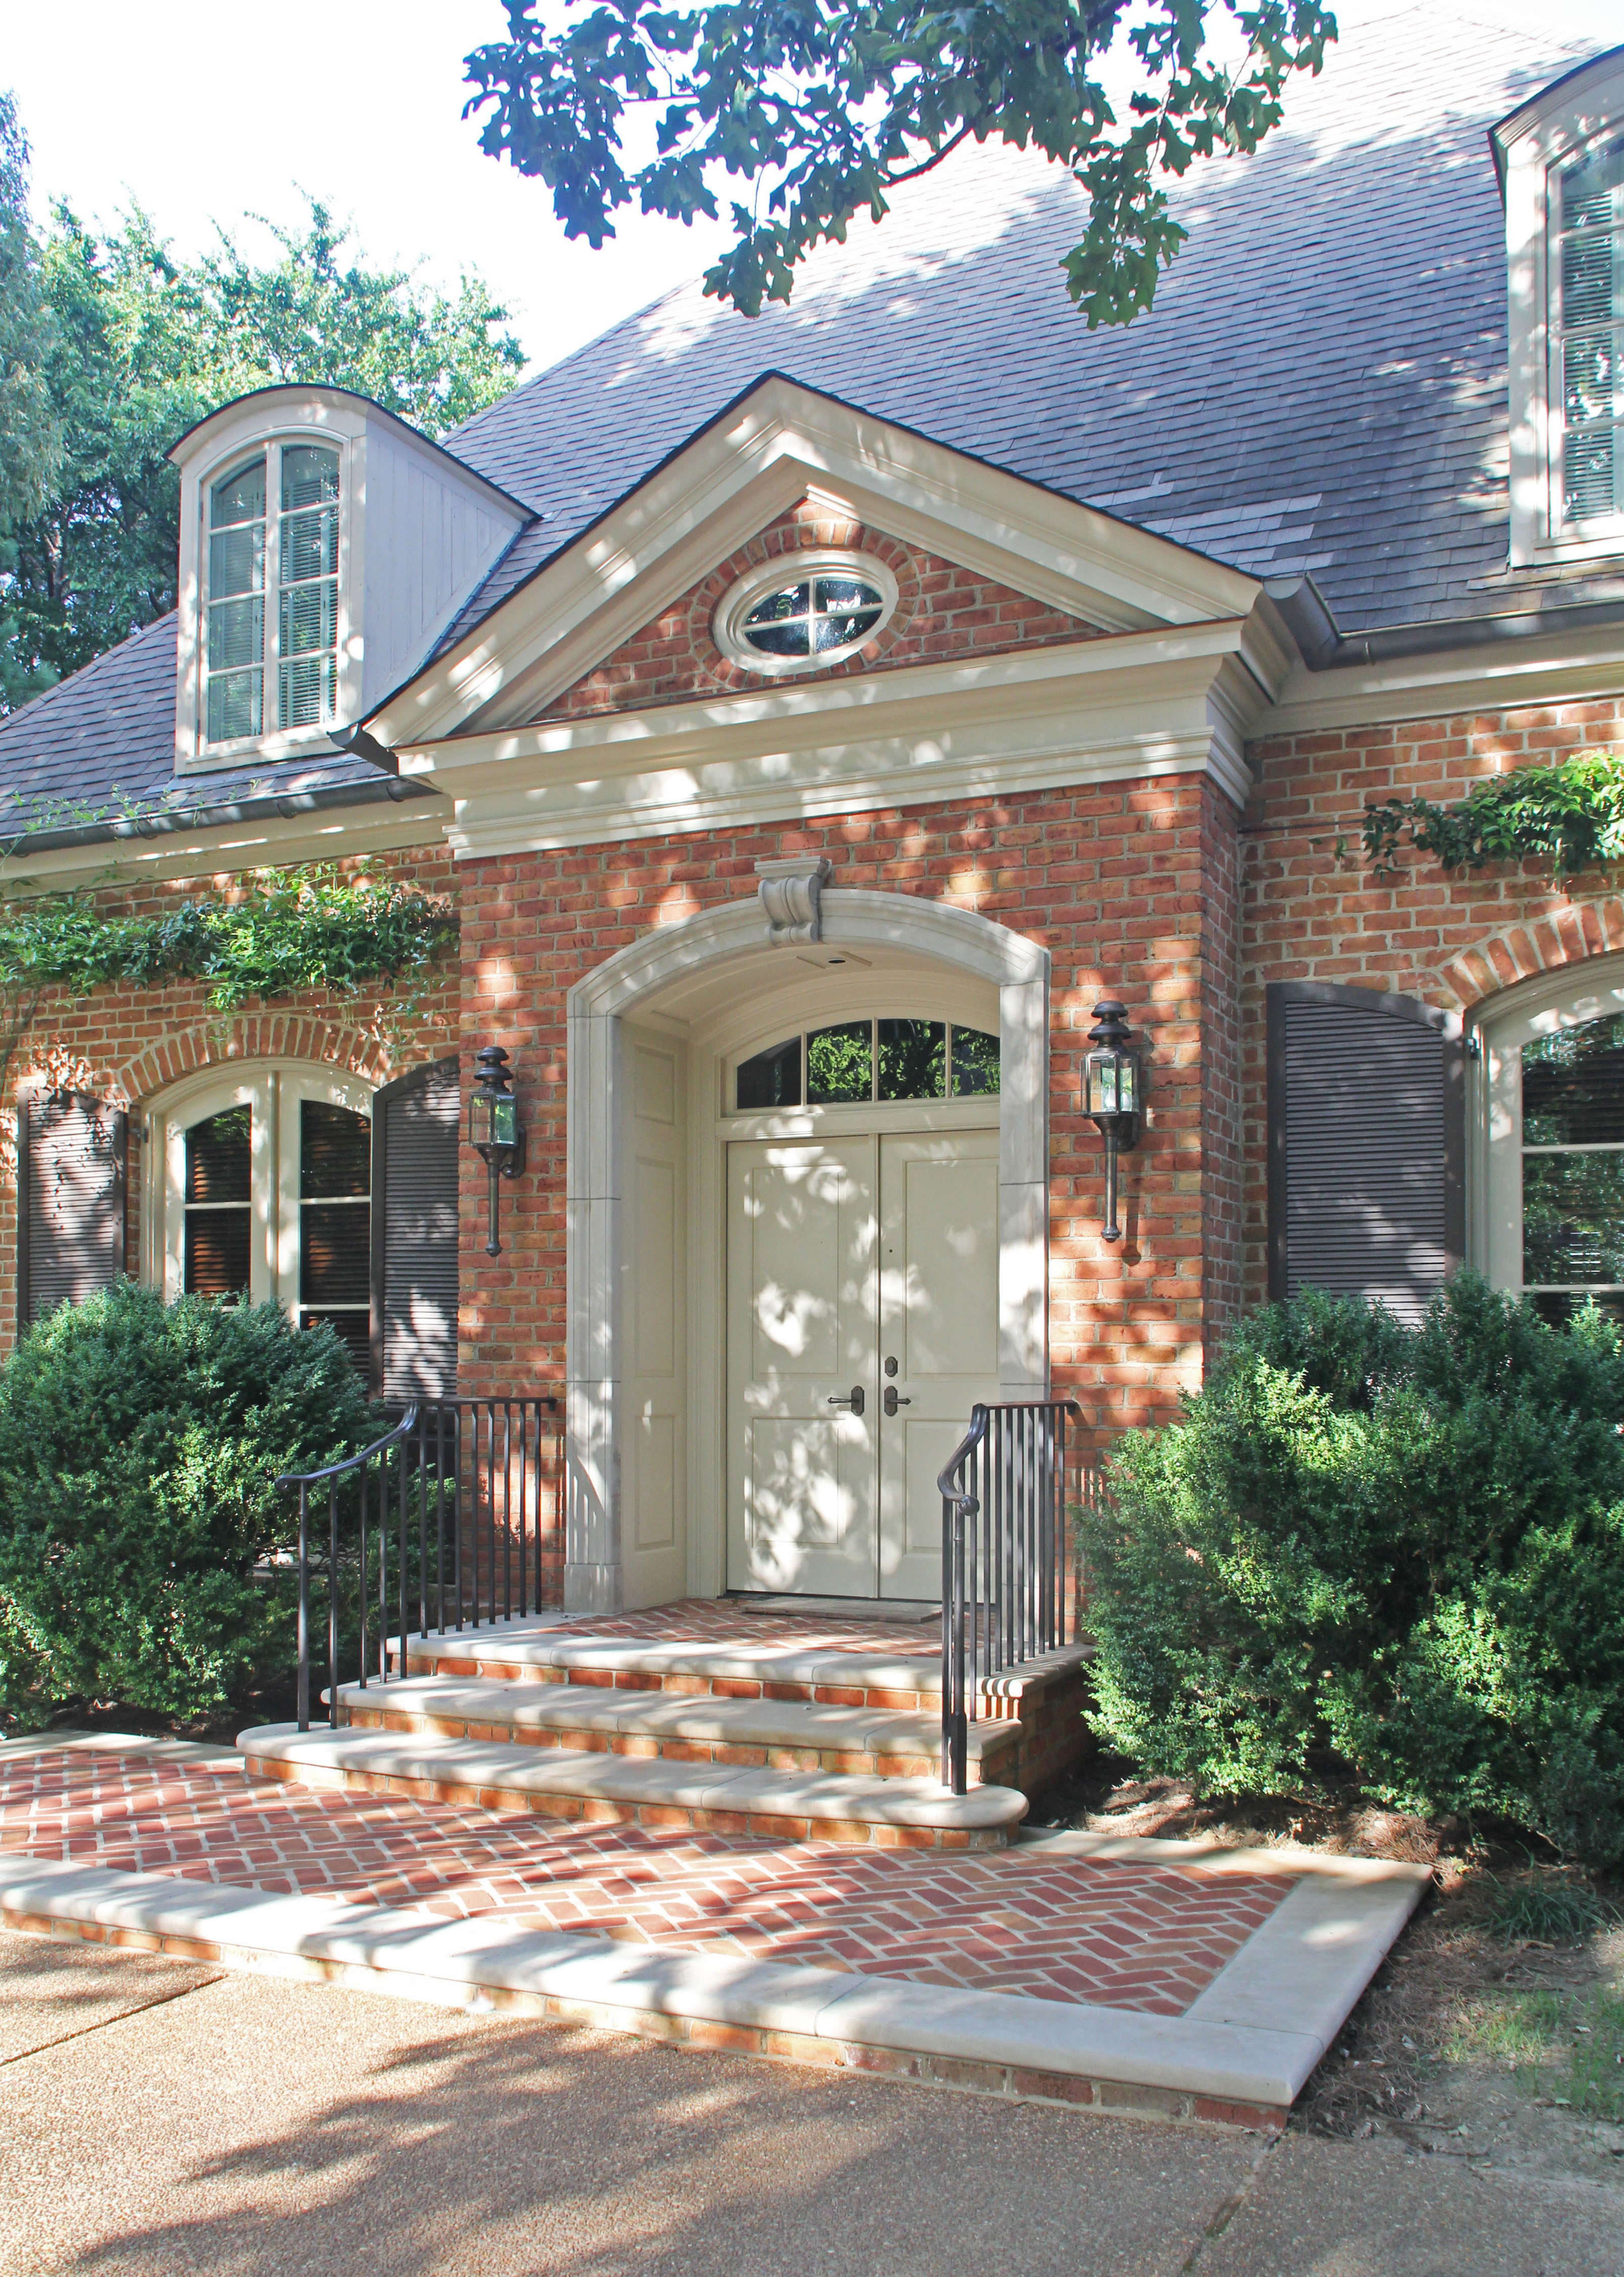
[{"label": "dark metal handrail on the right side of the steps", "polygon": [[968,1790],[979,1685],[1066,1642],[1068,1416],[1082,1416],[1075,1400],[977,1400],[936,1480],[941,1783],[954,1794]]}]

